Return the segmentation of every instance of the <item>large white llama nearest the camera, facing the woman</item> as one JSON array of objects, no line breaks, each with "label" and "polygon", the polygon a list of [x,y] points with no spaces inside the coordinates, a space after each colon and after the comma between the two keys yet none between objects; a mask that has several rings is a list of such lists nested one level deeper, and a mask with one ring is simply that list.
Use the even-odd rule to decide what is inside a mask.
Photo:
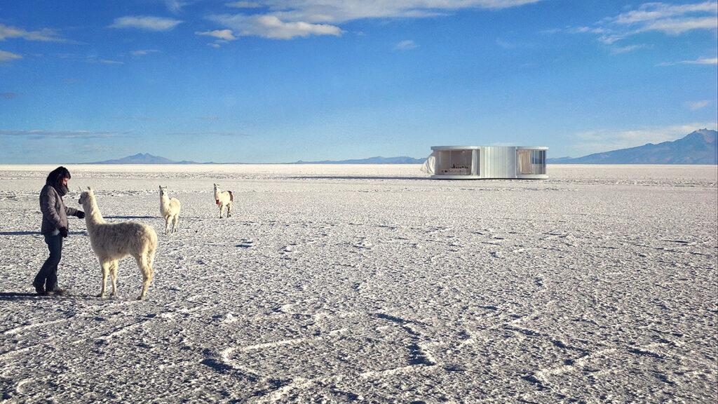
[{"label": "large white llama nearest the camera, facing the woman", "polygon": [[90,245],[102,267],[102,290],[99,297],[105,297],[109,274],[112,275],[112,295],[116,295],[117,262],[131,255],[142,272],[142,293],[137,299],[144,299],[152,280],[152,263],[154,252],[157,250],[157,234],[154,229],[134,221],[107,223],[100,213],[95,201],[95,193],[90,187],[80,193],[78,203],[85,209],[85,224],[90,235]]}]

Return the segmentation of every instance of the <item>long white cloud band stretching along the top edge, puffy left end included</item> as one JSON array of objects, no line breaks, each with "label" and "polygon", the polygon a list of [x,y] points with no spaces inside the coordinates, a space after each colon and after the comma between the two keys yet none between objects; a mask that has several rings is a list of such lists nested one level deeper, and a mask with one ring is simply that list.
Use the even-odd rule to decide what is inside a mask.
[{"label": "long white cloud band stretching along the top edge, puffy left end included", "polygon": [[266,14],[220,14],[209,19],[235,35],[289,40],[311,35],[342,35],[339,24],[357,19],[435,17],[460,9],[505,9],[539,0],[265,0],[235,1],[233,8],[263,6]]}]

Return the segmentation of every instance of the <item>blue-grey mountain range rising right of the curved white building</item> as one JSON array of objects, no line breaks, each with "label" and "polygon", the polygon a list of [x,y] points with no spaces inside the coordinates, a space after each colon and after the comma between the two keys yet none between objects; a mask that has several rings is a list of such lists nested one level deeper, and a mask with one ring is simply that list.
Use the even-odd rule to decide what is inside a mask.
[{"label": "blue-grey mountain range rising right of the curved white building", "polygon": [[648,143],[584,157],[549,158],[549,164],[718,164],[718,132],[700,129],[673,142]]}]

